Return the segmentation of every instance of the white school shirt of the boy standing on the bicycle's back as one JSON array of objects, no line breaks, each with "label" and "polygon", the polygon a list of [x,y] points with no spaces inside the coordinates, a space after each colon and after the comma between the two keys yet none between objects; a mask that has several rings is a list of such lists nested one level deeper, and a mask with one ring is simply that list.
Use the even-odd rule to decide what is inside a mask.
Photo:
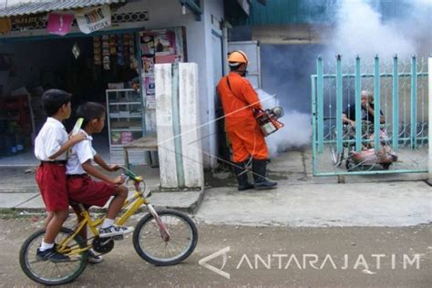
[{"label": "white school shirt of the boy standing on the bicycle's back", "polygon": [[[67,141],[67,131],[62,122],[56,118],[48,117],[35,139],[35,155],[41,161],[50,161],[49,156],[55,154]],[[66,160],[66,152],[56,160]]]}]

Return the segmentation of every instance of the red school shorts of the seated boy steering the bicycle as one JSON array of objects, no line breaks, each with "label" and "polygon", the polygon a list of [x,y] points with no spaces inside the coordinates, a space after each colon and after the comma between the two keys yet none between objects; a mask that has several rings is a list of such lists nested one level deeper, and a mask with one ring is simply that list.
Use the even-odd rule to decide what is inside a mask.
[{"label": "red school shorts of the seated boy steering the bicycle", "polygon": [[103,207],[116,189],[116,184],[95,181],[88,175],[67,176],[69,199],[78,203]]}]

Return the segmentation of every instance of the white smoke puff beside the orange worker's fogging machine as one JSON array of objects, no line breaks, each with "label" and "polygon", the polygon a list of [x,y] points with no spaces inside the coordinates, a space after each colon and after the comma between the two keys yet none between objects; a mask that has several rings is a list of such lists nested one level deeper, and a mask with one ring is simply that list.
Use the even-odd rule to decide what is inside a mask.
[{"label": "white smoke puff beside the orange worker's fogging machine", "polygon": [[[264,109],[279,106],[276,95],[270,95],[262,89],[256,90]],[[284,115],[280,121],[285,125],[266,138],[270,157],[289,149],[302,149],[311,144],[312,127],[311,116],[307,113],[300,113],[295,110],[288,112],[283,108]]]}]

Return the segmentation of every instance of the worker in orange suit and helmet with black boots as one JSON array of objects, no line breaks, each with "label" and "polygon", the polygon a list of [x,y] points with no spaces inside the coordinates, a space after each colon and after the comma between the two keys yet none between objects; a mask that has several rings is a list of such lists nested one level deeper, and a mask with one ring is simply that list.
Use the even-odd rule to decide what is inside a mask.
[{"label": "worker in orange suit and helmet with black boots", "polygon": [[[228,62],[231,72],[221,78],[217,89],[225,115],[225,128],[231,141],[238,189],[271,189],[277,183],[265,177],[267,145],[253,117],[254,109],[262,109],[262,105],[251,83],[245,77],[248,57],[244,52],[236,50],[230,53]],[[254,184],[248,181],[246,169],[247,161],[251,157]]]}]

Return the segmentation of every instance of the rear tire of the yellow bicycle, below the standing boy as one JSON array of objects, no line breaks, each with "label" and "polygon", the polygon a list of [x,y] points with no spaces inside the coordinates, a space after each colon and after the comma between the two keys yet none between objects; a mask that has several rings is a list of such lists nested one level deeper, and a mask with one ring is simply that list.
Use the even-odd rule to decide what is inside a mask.
[{"label": "rear tire of the yellow bicycle, below the standing boy", "polygon": [[[35,231],[32,235],[30,235],[26,241],[21,246],[21,250],[19,252],[19,264],[21,266],[21,269],[24,273],[26,273],[26,276],[33,280],[36,283],[44,284],[44,285],[61,285],[65,283],[69,283],[77,279],[77,277],[84,272],[84,270],[87,267],[87,251],[82,252],[79,256],[77,256],[77,260],[70,261],[70,262],[50,262],[50,261],[36,261],[36,262],[30,262],[32,256],[31,252],[36,252],[36,248],[34,245],[40,245],[40,241],[43,239],[44,235],[46,233],[46,229],[40,229],[38,231]],[[65,237],[68,237],[72,235],[74,231],[62,227],[60,231],[58,232],[57,238],[64,235]],[[86,243],[82,240],[82,238],[79,235],[76,235],[74,237],[74,241],[79,245],[80,248],[85,248]],[[77,262],[77,269],[71,270],[70,274],[67,274],[63,277],[57,277],[54,278],[54,274],[52,278],[42,276],[40,273],[36,273],[36,264],[42,264],[44,265],[43,271],[49,272],[49,269],[46,269],[46,267],[49,268],[49,266],[52,266],[52,268],[56,267],[57,273],[61,273],[61,270],[57,265],[63,265],[63,269],[67,263]],[[35,265],[33,265],[35,263]],[[54,269],[52,269],[54,270]]]}]

